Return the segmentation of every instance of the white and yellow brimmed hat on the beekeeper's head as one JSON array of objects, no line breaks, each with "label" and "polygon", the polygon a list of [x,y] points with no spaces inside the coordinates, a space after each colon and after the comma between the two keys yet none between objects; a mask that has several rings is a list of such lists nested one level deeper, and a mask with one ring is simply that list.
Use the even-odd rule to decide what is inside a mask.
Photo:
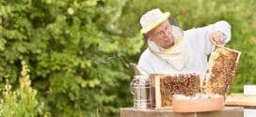
[{"label": "white and yellow brimmed hat on the beekeeper's head", "polygon": [[152,9],[146,12],[140,18],[140,25],[142,29],[140,30],[141,34],[146,34],[151,31],[153,28],[158,26],[160,23],[168,20],[169,12],[163,13],[159,8]]}]

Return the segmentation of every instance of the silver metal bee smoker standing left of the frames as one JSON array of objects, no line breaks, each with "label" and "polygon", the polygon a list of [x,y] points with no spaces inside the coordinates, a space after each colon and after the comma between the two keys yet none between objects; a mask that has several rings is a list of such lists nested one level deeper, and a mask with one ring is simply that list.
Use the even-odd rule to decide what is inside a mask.
[{"label": "silver metal bee smoker standing left of the frames", "polygon": [[134,96],[134,108],[148,109],[152,106],[151,80],[148,76],[135,76],[130,83],[131,93]]}]

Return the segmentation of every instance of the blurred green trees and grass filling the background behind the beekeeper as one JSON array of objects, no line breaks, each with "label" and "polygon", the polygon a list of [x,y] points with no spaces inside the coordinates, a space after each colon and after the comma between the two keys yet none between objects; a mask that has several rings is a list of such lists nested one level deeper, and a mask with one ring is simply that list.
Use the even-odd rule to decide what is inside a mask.
[{"label": "blurred green trees and grass filling the background behind the beekeeper", "polygon": [[120,116],[146,48],[139,18],[156,7],[184,30],[230,22],[232,93],[256,84],[255,0],[1,0],[0,116]]}]

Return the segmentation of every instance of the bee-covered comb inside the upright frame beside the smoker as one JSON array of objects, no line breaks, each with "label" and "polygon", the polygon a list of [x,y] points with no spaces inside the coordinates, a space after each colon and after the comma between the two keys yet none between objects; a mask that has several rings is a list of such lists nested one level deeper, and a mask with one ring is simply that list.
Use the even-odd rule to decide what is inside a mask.
[{"label": "bee-covered comb inside the upright frame beside the smoker", "polygon": [[170,107],[172,95],[195,95],[200,92],[200,76],[196,74],[168,75],[160,79],[162,107]]}]

